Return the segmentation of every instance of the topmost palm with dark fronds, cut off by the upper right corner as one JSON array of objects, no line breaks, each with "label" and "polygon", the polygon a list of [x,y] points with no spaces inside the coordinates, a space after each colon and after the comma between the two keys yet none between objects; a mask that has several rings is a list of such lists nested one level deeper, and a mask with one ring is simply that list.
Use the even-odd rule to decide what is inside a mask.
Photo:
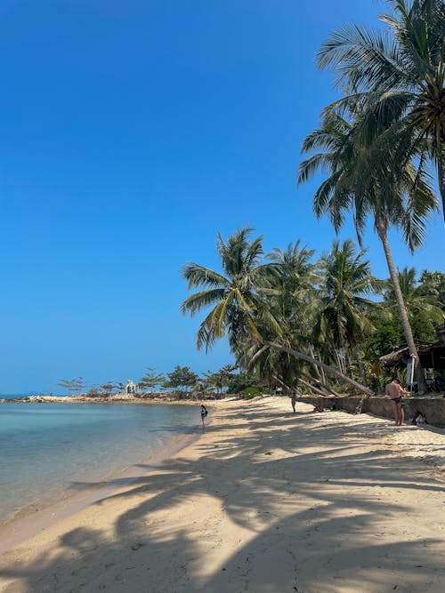
[{"label": "topmost palm with dark fronds, cut off by the upper right corner", "polygon": [[332,33],[318,54],[334,68],[340,103],[370,102],[370,120],[383,131],[394,162],[417,156],[438,172],[445,217],[445,4],[443,0],[387,0],[386,30],[349,25]]}]

